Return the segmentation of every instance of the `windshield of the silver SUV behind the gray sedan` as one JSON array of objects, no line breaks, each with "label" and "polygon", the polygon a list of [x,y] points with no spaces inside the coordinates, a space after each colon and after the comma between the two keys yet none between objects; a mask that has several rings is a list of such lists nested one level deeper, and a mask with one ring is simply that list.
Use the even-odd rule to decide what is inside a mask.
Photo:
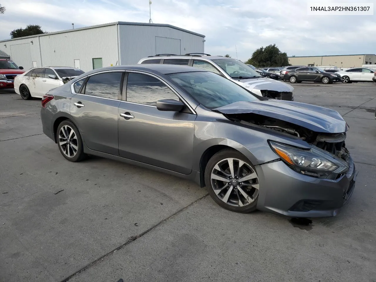
[{"label": "windshield of the silver SUV behind the gray sedan", "polygon": [[235,59],[214,59],[212,60],[233,79],[248,79],[262,77],[257,71]]}]

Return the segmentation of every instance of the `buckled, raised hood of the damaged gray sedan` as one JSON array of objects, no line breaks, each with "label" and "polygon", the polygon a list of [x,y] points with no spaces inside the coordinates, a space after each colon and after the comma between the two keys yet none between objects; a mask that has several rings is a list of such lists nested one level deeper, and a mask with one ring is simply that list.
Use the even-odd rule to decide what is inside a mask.
[{"label": "buckled, raised hood of the damaged gray sedan", "polygon": [[259,114],[303,126],[315,132],[342,133],[349,127],[334,110],[305,103],[274,100],[235,102],[213,109],[222,114]]}]

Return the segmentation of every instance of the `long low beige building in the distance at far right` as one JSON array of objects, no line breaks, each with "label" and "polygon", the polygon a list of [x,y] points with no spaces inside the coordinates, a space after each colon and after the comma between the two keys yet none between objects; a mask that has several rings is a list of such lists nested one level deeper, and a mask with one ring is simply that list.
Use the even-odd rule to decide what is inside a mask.
[{"label": "long low beige building in the distance at far right", "polygon": [[335,56],[304,56],[288,57],[291,65],[306,65],[309,67],[334,65],[338,68],[361,67],[362,65],[375,65],[376,55],[335,55]]}]

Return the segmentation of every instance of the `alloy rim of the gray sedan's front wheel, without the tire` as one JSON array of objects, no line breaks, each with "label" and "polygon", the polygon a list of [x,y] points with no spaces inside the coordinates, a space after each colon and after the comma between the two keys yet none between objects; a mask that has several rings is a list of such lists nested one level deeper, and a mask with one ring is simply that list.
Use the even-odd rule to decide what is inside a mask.
[{"label": "alloy rim of the gray sedan's front wheel, without the tire", "polygon": [[246,162],[227,158],[211,172],[211,185],[217,197],[227,205],[243,207],[253,203],[259,193],[256,171]]}]

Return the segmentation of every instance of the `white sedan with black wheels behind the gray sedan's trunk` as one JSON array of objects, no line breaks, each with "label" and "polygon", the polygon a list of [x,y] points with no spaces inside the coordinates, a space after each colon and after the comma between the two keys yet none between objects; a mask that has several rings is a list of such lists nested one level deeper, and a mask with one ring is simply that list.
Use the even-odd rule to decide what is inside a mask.
[{"label": "white sedan with black wheels behind the gray sedan's trunk", "polygon": [[32,68],[14,78],[14,91],[22,99],[42,98],[50,89],[59,87],[84,71],[71,67]]}]

